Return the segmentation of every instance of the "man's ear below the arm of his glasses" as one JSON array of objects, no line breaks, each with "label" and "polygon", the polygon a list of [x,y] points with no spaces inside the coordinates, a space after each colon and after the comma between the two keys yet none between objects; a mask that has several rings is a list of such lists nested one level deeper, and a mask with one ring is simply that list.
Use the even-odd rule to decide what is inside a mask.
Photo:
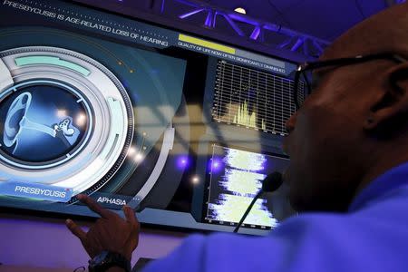
[{"label": "man's ear below the arm of his glasses", "polygon": [[383,73],[383,78],[384,84],[379,86],[383,93],[374,102],[364,121],[365,131],[382,131],[389,125],[408,121],[408,63],[393,66]]}]

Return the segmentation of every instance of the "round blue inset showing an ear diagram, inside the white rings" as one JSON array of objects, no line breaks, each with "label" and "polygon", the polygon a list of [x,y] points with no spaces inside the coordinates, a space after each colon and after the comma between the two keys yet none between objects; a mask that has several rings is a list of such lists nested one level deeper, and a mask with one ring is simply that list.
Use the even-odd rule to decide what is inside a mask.
[{"label": "round blue inset showing an ear diagram, inside the white rings", "polygon": [[52,167],[81,151],[92,112],[81,92],[56,81],[19,83],[0,95],[0,156],[17,167]]}]

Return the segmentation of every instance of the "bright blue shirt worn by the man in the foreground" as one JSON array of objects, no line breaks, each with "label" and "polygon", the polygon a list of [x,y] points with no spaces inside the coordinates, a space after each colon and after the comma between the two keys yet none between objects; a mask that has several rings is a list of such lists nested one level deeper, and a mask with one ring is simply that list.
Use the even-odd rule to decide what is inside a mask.
[{"label": "bright blue shirt worn by the man in the foreground", "polygon": [[267,237],[192,235],[150,271],[408,271],[408,163],[340,213],[306,213]]}]

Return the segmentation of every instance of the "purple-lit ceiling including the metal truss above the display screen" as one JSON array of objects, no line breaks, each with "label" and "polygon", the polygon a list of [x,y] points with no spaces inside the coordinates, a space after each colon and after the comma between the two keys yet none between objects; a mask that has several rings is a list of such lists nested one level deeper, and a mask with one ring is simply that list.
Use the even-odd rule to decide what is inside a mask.
[{"label": "purple-lit ceiling including the metal truss above the display screen", "polygon": [[[318,57],[340,34],[407,0],[76,0],[189,32]],[[243,7],[247,15],[234,12]],[[165,23],[160,19],[167,19]],[[187,27],[187,28],[186,28]],[[191,28],[196,27],[196,29]],[[199,29],[197,29],[197,27]],[[197,31],[199,30],[199,31]],[[247,46],[244,44],[243,46]],[[265,49],[255,49],[265,52]]]}]

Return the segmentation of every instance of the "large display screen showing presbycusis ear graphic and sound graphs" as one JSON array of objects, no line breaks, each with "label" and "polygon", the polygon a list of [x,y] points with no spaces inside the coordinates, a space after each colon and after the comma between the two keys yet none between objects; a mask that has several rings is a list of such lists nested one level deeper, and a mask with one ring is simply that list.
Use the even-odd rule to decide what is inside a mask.
[{"label": "large display screen showing presbycusis ear graphic and sound graphs", "polygon": [[[0,206],[230,231],[285,170],[294,63],[66,1],[2,1]],[[291,213],[259,199],[248,233]]]}]

